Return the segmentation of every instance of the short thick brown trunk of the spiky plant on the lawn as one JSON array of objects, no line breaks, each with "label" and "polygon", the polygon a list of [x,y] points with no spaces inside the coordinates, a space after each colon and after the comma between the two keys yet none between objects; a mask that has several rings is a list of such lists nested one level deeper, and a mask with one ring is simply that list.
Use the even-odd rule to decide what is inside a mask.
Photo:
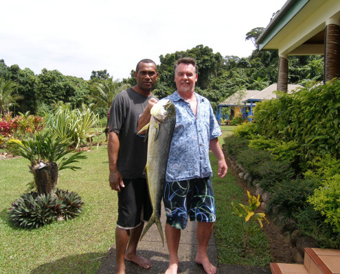
[{"label": "short thick brown trunk of the spiky plant on the lawn", "polygon": [[54,190],[56,190],[56,184],[58,183],[58,164],[55,162],[43,164],[45,164],[45,166],[37,164],[32,169],[38,195],[47,195],[54,192]]}]

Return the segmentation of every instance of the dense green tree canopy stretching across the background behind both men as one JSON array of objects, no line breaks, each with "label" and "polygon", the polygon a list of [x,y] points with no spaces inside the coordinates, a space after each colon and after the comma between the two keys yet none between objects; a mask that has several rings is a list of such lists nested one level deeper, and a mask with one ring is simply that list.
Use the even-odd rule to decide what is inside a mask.
[{"label": "dense green tree canopy stretching across the background behind both men", "polygon": [[[262,32],[262,27],[251,29],[247,32],[245,40],[255,43]],[[154,90],[159,99],[176,90],[174,63],[183,57],[196,59],[199,67],[196,92],[207,97],[213,108],[238,90],[262,90],[277,81],[276,50],[259,51],[256,47],[247,58],[234,55],[223,57],[207,46],[197,45],[186,51],[159,56],[160,64],[157,68],[159,79]],[[289,56],[288,64],[291,84],[304,85],[311,79],[322,79],[324,61],[319,55]],[[30,69],[20,69],[16,64],[7,66],[4,60],[0,60],[0,77],[5,82],[12,82],[15,94],[18,95],[14,100],[17,103],[15,110],[23,113],[30,111],[32,114],[37,112],[38,108],[42,106],[49,108],[49,105],[58,101],[70,103],[73,108],[93,103],[98,111],[101,109],[105,114],[117,92],[126,86],[135,86],[134,72],[132,69],[131,77],[117,81],[106,69],[92,71],[91,79],[86,81],[78,77],[65,76],[57,70],[43,69],[40,74],[34,75]],[[13,111],[14,105],[14,102],[9,105],[8,110]]]}]

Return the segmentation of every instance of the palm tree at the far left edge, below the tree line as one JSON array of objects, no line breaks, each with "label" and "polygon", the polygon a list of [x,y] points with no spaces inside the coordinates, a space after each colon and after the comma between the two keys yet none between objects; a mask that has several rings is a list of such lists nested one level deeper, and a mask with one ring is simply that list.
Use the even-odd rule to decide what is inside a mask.
[{"label": "palm tree at the far left edge, below the tree line", "polygon": [[10,107],[17,105],[16,100],[22,99],[23,96],[14,94],[15,85],[12,81],[5,82],[3,77],[0,78],[0,116],[10,111]]}]

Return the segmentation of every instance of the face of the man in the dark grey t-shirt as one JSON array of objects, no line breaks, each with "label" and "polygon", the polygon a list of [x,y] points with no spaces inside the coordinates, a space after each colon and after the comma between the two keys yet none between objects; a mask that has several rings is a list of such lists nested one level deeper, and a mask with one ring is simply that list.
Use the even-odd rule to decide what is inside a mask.
[{"label": "face of the man in the dark grey t-shirt", "polygon": [[135,72],[137,86],[141,90],[150,92],[155,86],[158,75],[159,73],[157,73],[157,67],[154,63],[139,63],[138,73]]}]

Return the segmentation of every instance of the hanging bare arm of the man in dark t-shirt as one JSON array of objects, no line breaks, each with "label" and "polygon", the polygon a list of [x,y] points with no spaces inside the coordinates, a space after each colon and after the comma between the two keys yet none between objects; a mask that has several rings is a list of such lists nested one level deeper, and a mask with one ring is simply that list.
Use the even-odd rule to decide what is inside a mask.
[{"label": "hanging bare arm of the man in dark t-shirt", "polygon": [[109,184],[112,190],[120,191],[124,188],[123,178],[117,169],[118,151],[120,149],[120,138],[115,132],[109,132],[109,143],[107,147],[109,155]]}]

